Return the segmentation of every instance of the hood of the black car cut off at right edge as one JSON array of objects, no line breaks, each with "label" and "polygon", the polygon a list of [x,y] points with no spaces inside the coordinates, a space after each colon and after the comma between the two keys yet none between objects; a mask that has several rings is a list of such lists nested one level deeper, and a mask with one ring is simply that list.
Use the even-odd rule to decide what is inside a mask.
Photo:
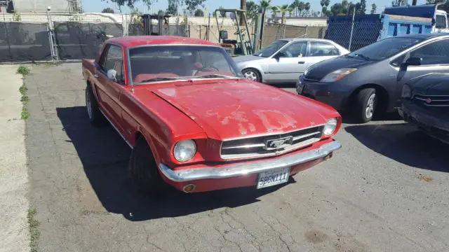
[{"label": "hood of the black car cut off at right edge", "polygon": [[422,95],[449,95],[449,73],[431,73],[413,84],[413,93]]}]

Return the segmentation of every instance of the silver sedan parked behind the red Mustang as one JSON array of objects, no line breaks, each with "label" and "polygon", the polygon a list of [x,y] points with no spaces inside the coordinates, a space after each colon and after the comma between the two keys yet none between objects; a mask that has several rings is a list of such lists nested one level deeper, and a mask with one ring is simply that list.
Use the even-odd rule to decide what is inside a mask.
[{"label": "silver sedan parked behind the red Mustang", "polygon": [[253,55],[234,57],[243,76],[262,83],[295,83],[307,67],[349,53],[333,41],[320,38],[283,38]]}]

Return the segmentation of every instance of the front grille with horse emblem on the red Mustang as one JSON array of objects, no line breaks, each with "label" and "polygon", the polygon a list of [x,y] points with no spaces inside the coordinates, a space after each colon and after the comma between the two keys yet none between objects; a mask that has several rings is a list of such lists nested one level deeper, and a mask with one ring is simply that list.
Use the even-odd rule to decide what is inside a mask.
[{"label": "front grille with horse emblem on the red Mustang", "polygon": [[323,127],[324,125],[319,125],[283,134],[223,141],[221,158],[257,158],[293,151],[319,141]]}]

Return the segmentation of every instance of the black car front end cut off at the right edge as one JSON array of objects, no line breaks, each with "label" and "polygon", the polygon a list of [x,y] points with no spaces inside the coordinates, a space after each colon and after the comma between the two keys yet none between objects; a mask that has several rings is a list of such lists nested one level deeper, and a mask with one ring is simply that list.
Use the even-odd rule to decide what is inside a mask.
[{"label": "black car front end cut off at the right edge", "polygon": [[403,85],[399,115],[449,144],[449,73],[432,73]]}]

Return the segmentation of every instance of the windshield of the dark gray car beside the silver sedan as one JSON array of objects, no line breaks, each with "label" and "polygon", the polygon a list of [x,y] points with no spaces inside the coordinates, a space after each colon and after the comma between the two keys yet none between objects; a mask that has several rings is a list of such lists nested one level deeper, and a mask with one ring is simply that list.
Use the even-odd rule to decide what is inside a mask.
[{"label": "windshield of the dark gray car beside the silver sedan", "polygon": [[366,60],[382,60],[387,59],[398,52],[402,52],[407,48],[424,41],[422,38],[400,38],[391,37],[384,38],[376,43],[365,46],[349,53],[347,57],[358,57]]}]

